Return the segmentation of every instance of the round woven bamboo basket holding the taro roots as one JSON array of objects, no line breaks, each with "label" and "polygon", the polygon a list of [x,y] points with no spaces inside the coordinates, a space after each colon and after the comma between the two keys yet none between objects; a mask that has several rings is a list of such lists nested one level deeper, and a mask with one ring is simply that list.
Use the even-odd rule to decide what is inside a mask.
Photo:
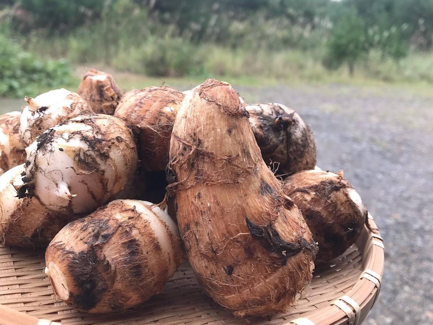
[{"label": "round woven bamboo basket holding the taro roots", "polygon": [[314,270],[294,308],[271,319],[234,318],[206,296],[187,263],[145,305],[122,314],[86,315],[55,296],[44,268],[45,251],[0,245],[0,325],[358,325],[379,295],[384,246],[379,233],[364,226],[344,254]]}]

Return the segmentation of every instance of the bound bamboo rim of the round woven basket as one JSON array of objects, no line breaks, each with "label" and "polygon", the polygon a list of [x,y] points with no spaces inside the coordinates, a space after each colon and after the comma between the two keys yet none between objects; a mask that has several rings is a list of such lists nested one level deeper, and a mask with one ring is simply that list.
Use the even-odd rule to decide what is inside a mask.
[{"label": "bound bamboo rim of the round woven basket", "polygon": [[[364,225],[356,241],[362,252],[362,274],[346,294],[330,305],[308,315],[293,319],[282,325],[357,325],[374,306],[380,291],[381,277],[385,267],[383,239],[376,223],[368,213],[369,228]],[[61,325],[46,319],[16,311],[0,303],[0,323],[4,325]]]}]

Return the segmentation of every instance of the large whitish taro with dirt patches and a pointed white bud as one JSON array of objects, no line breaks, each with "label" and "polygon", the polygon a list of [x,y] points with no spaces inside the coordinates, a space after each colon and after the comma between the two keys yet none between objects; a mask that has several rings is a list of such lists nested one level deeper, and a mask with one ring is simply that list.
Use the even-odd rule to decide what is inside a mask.
[{"label": "large whitish taro with dirt patches and a pointed white bud", "polygon": [[26,148],[23,195],[53,211],[92,212],[119,193],[136,170],[132,132],[121,119],[78,116]]}]

